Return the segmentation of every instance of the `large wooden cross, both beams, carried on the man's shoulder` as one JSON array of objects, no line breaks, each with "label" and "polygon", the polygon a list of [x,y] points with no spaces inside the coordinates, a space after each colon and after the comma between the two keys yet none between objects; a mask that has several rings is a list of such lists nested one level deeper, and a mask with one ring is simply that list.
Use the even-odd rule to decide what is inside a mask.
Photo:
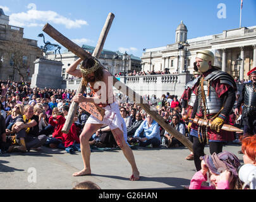
[{"label": "large wooden cross, both beams, carried on the man's shoulder", "polygon": [[[112,16],[112,18],[111,18],[111,16]],[[104,41],[106,40],[107,32],[110,28],[113,18],[114,18],[113,13],[109,13],[106,23],[104,25],[104,28],[102,29],[101,37],[97,44],[98,48],[96,47],[99,50],[100,50],[100,48],[101,49],[103,48],[103,44],[104,44]],[[76,45],[74,42],[72,42],[68,38],[64,37],[64,35],[59,33],[58,30],[53,28],[48,23],[44,26],[43,31],[46,32],[50,37],[52,37],[52,39],[56,40],[57,42],[59,42],[59,44],[63,45],[64,47],[66,47],[66,49],[70,50],[71,52],[73,52],[73,54],[75,54],[76,56],[78,56],[82,59],[87,59],[87,58],[94,59],[94,57],[96,56],[95,54],[93,54],[92,56],[90,54],[88,54],[85,50],[82,49],[82,47]],[[101,39],[103,39],[103,40],[101,40]],[[102,41],[102,42],[100,42],[100,41]],[[99,45],[99,43],[101,45]],[[95,50],[96,50],[96,48],[95,48]],[[94,50],[94,52],[97,52],[95,50]],[[101,52],[97,52],[97,53],[101,54]],[[104,66],[102,66],[101,63],[99,63],[99,65],[102,68],[104,68]],[[106,68],[104,68],[104,69],[106,69]],[[164,119],[157,113],[157,111],[150,109],[150,105],[147,103],[146,100],[144,100],[140,95],[138,95],[136,92],[131,90],[131,88],[126,86],[124,83],[119,81],[115,76],[112,75],[111,79],[113,80],[113,86],[115,88],[117,88],[119,91],[121,91],[124,95],[127,95],[129,98],[131,98],[131,100],[133,100],[133,102],[140,105],[142,107],[142,109],[144,109],[145,112],[147,112],[147,114],[150,114],[150,116],[155,121],[157,121],[159,123],[159,125],[162,126],[162,128],[164,128],[166,131],[168,131],[169,134],[172,134],[177,140],[179,140],[181,143],[183,143],[183,145],[185,145],[190,151],[193,151],[192,142],[189,141],[188,138],[186,138],[183,134],[176,131],[176,129],[174,129],[171,125],[167,124],[164,121]],[[76,90],[76,93],[84,92],[85,88],[86,88],[86,86],[82,86],[82,83],[80,83],[80,86],[78,87],[78,90]],[[68,112],[68,118],[66,119],[66,122],[63,126],[64,133],[68,133],[68,131],[71,127],[71,124],[73,122],[73,117],[75,116],[77,107],[78,107],[78,104],[76,104],[75,102],[71,103],[70,110]]]}]

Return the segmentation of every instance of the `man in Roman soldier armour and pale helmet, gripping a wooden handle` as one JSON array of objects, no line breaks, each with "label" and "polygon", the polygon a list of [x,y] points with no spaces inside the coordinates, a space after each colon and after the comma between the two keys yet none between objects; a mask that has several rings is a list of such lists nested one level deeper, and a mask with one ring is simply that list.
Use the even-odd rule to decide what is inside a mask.
[{"label": "man in Roman soldier armour and pale helmet, gripping a wooden handle", "polygon": [[210,153],[219,153],[222,142],[234,138],[233,132],[221,130],[221,127],[224,123],[229,124],[229,113],[236,98],[236,83],[228,73],[213,66],[214,54],[209,50],[198,51],[196,60],[194,69],[202,74],[192,88],[196,99],[191,118],[211,122],[210,126],[192,120],[188,124],[190,135],[193,136],[195,166],[200,170],[200,156],[204,155],[206,143],[209,143]]}]

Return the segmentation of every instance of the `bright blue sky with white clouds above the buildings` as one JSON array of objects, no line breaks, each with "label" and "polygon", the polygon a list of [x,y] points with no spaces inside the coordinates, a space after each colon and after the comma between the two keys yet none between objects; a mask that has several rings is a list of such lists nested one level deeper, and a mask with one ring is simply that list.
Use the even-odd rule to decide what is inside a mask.
[{"label": "bright blue sky with white clouds above the buildings", "polygon": [[[217,6],[221,4],[226,7]],[[143,48],[173,44],[183,20],[188,39],[239,28],[240,0],[1,0],[10,24],[43,45],[42,27],[50,23],[78,45],[96,45],[108,13],[115,15],[104,49],[141,57]],[[217,14],[224,18],[218,18]],[[226,16],[225,16],[226,15]],[[256,0],[243,0],[241,27],[256,25]],[[46,33],[46,40],[55,42]],[[64,47],[62,48],[64,50]]]}]

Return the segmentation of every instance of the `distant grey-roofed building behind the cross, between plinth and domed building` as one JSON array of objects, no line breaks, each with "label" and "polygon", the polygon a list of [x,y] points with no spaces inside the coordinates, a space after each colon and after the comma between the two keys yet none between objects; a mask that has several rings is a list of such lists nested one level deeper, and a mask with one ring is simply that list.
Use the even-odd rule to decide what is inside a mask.
[{"label": "distant grey-roofed building behind the cross, between plinth and domed building", "polygon": [[[82,48],[84,50],[87,50],[92,54],[94,52],[95,47],[90,45],[82,45]],[[54,59],[55,54],[50,53],[46,56],[47,59]],[[64,50],[63,53],[61,53],[61,56],[57,54],[56,60],[60,60],[62,58],[63,68],[62,68],[62,77],[63,79],[71,78],[69,74],[66,74],[66,69],[74,62],[76,59],[78,59],[75,54],[68,50]],[[123,54],[119,51],[111,51],[103,49],[101,52],[101,56],[99,57],[99,61],[101,64],[109,70],[111,74],[117,74],[117,73],[131,73],[134,70],[135,71],[141,71],[141,59],[140,57],[133,56],[133,54]]]}]

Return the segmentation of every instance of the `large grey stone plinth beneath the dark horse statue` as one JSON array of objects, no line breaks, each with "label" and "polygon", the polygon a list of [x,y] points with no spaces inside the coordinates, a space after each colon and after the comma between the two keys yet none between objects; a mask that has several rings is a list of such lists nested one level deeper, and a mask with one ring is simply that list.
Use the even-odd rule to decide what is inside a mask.
[{"label": "large grey stone plinth beneath the dark horse statue", "polygon": [[40,58],[34,64],[35,71],[30,85],[32,88],[61,88],[62,62]]}]

